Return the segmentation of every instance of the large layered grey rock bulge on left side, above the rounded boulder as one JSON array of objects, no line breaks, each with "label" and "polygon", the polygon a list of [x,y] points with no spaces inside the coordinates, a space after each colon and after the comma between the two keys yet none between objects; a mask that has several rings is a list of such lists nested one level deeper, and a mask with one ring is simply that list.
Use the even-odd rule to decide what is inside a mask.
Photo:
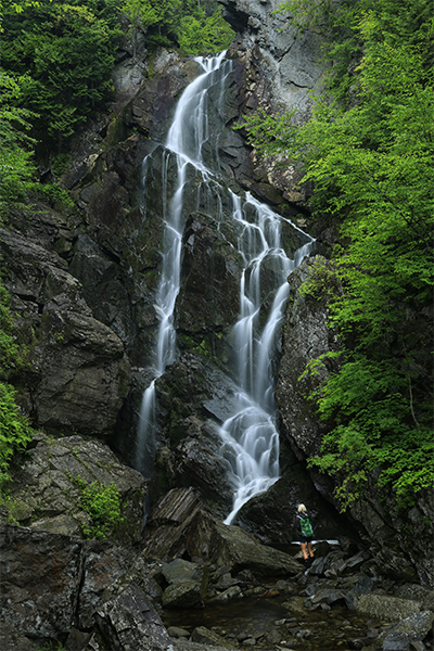
[{"label": "large layered grey rock bulge on left side, above the rounded boulder", "polygon": [[3,229],[0,252],[20,336],[31,346],[23,400],[34,422],[111,435],[130,381],[120,340],[93,318],[80,283],[56,253]]}]

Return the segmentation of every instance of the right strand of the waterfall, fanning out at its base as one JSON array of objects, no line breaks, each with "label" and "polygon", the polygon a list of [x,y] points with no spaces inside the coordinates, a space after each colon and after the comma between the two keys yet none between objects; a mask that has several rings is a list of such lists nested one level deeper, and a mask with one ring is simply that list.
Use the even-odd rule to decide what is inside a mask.
[{"label": "right strand of the waterfall, fanning out at its base", "polygon": [[[233,217],[243,227],[239,251],[245,268],[240,286],[240,319],[234,327],[239,409],[220,430],[222,454],[230,464],[234,488],[232,511],[226,524],[233,522],[248,499],[267,490],[279,478],[279,433],[271,365],[289,296],[286,278],[309,254],[314,242],[309,238],[310,241],[297,250],[294,260],[290,259],[281,242],[282,218],[248,193],[243,206],[233,195]],[[275,280],[275,295],[260,327],[264,270]]]}]

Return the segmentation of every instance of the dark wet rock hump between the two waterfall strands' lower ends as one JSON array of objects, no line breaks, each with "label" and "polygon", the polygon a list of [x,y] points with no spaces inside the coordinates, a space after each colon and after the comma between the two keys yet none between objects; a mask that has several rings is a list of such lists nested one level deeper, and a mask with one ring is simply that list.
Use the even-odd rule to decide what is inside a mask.
[{"label": "dark wet rock hump between the two waterfall strands' lower ends", "polygon": [[222,371],[190,353],[157,380],[161,439],[150,484],[152,503],[169,488],[193,486],[216,514],[230,512],[232,487],[218,426],[229,417],[235,392]]}]

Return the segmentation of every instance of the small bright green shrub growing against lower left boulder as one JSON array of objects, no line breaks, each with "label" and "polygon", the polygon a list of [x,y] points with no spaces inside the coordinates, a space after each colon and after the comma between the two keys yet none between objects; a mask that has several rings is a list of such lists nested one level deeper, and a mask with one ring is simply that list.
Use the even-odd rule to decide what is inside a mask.
[{"label": "small bright green shrub growing against lower left boulder", "polygon": [[80,477],[68,475],[73,484],[79,489],[79,506],[92,519],[91,526],[82,525],[81,531],[86,538],[107,538],[116,533],[118,526],[125,522],[122,514],[120,490],[115,484],[104,486],[101,482],[88,485]]}]

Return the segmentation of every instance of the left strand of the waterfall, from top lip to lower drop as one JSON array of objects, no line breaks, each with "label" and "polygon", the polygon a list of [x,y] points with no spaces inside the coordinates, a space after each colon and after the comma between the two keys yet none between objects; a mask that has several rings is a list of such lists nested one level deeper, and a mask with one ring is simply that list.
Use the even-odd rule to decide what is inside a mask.
[{"label": "left strand of the waterfall, from top lip to lower drop", "polygon": [[[187,168],[191,165],[202,175],[203,182],[208,181],[209,173],[203,164],[202,153],[203,146],[210,137],[206,101],[207,92],[214,84],[222,85],[221,90],[224,90],[226,75],[230,72],[226,65],[226,73],[224,71],[224,74],[217,74],[224,58],[225,52],[212,59],[196,59],[204,73],[196,77],[182,93],[165,143],[162,170],[164,220],[162,272],[154,305],[159,319],[156,362],[153,369],[154,380],[142,397],[135,460],[136,469],[143,472],[146,478],[151,478],[155,457],[155,378],[159,378],[165,368],[177,357],[174,312],[180,289],[182,208]],[[230,62],[226,61],[226,64],[230,65]],[[170,196],[167,171],[174,157],[178,179],[175,192]]]}]

